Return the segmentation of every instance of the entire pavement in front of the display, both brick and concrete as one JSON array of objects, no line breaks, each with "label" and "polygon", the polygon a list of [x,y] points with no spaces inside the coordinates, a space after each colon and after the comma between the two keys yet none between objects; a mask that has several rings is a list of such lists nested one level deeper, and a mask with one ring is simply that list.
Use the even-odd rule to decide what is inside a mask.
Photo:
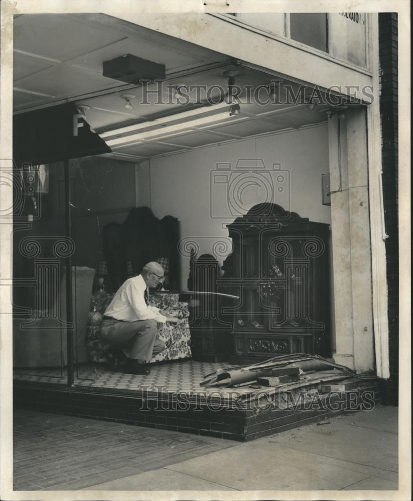
[{"label": "entire pavement in front of the display, both brick and concrete", "polygon": [[240,444],[16,411],[17,490],[396,490],[397,408]]}]

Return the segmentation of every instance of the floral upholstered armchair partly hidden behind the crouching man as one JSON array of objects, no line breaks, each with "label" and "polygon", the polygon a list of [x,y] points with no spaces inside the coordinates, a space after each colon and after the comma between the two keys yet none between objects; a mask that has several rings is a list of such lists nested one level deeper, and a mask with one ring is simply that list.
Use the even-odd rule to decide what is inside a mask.
[{"label": "floral upholstered armchair partly hidden behind the crouching man", "polygon": [[[112,346],[104,343],[100,338],[100,324],[103,314],[109,306],[113,294],[106,291],[98,291],[92,294],[89,309],[89,321],[86,328],[86,347],[93,362],[110,362],[112,359]],[[189,310],[187,303],[179,302],[179,294],[153,293],[149,297],[149,304],[156,306],[163,313],[171,317],[177,317],[177,324],[162,324],[158,322],[158,338],[166,348],[151,360],[146,362],[160,362],[162,360],[178,360],[190,358],[191,334],[189,331]]]}]

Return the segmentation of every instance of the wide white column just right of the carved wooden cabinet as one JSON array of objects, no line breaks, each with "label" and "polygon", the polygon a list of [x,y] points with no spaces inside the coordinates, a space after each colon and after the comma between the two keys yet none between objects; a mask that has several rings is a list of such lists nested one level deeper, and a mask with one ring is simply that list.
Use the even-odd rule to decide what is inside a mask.
[{"label": "wide white column just right of the carved wooden cabinet", "polygon": [[329,117],[337,363],[374,369],[366,111]]}]

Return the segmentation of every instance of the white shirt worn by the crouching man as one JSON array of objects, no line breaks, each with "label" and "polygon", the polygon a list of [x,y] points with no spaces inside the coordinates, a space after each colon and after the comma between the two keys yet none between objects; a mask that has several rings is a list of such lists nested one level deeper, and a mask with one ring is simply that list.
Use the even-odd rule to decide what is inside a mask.
[{"label": "white shirt worn by the crouching man", "polygon": [[144,296],[146,290],[142,275],[127,279],[116,291],[105,315],[125,322],[154,319],[165,323],[166,317],[160,313],[159,308],[147,306]]}]

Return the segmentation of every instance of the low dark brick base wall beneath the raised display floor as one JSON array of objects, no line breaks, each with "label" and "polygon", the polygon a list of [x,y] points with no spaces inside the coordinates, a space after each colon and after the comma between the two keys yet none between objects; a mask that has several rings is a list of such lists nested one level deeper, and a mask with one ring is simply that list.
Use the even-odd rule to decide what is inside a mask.
[{"label": "low dark brick base wall beneath the raised display floor", "polygon": [[66,388],[60,384],[15,380],[13,404],[15,408],[243,442],[327,417],[371,410],[377,404],[380,397],[377,379],[362,381],[350,378],[346,385],[349,388],[344,391],[322,393],[321,385],[315,383],[311,389],[310,386],[306,387],[307,398],[303,399],[302,404],[279,408],[278,403],[288,402],[290,396],[290,402],[299,401],[300,390],[290,396],[287,393],[273,394],[268,400],[262,398],[262,393],[257,393],[248,403],[240,399],[232,402],[219,398],[214,401],[208,397],[201,399],[200,394],[199,398],[196,394],[151,397],[136,390],[84,386]]}]

